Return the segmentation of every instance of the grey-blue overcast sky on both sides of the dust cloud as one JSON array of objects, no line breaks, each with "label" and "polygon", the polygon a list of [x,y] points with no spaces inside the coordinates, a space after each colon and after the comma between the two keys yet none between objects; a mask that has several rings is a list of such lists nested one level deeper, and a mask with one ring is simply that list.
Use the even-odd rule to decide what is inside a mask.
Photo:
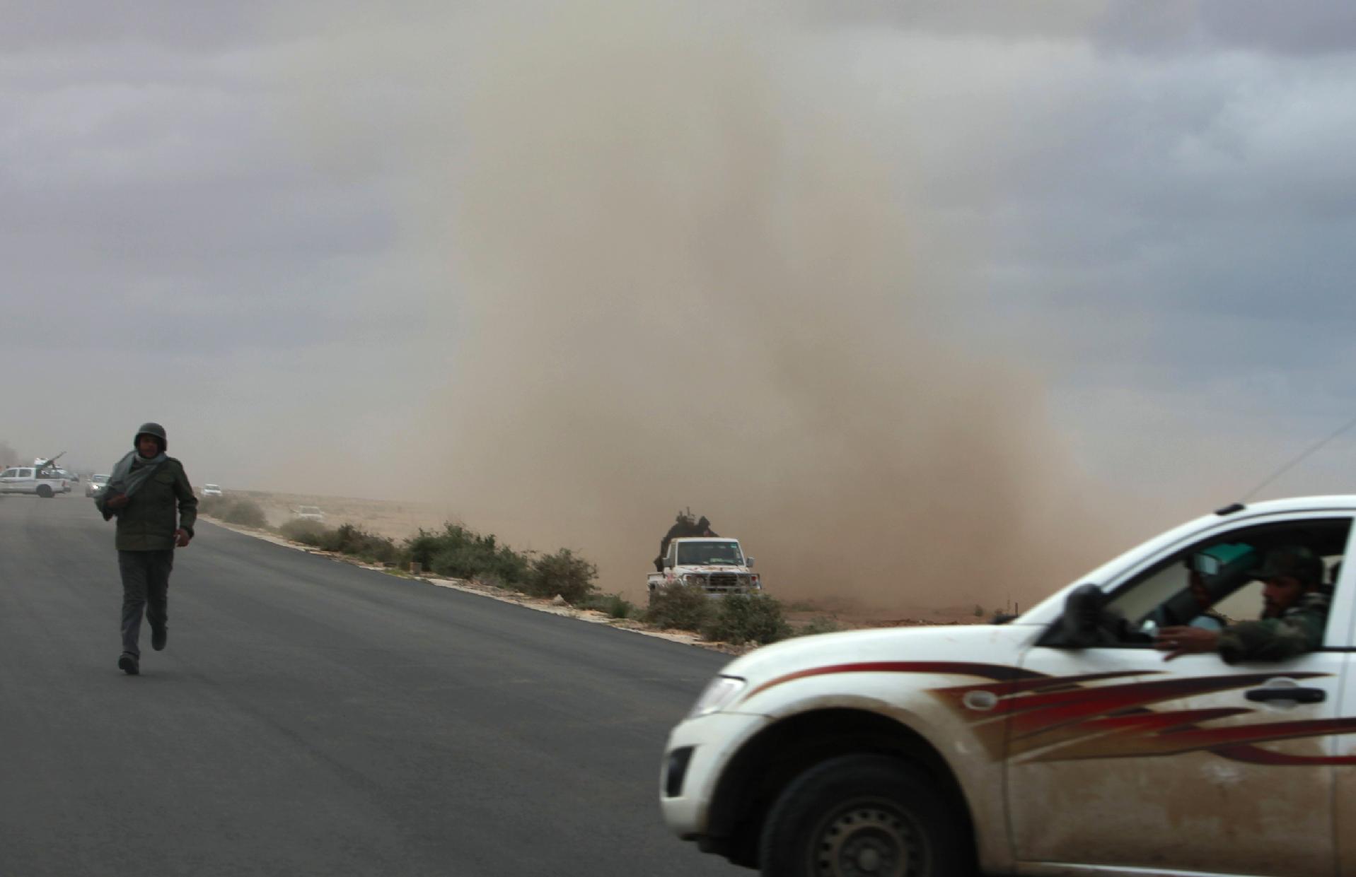
[{"label": "grey-blue overcast sky on both sides of the dust cloud", "polygon": [[[3,4],[0,441],[107,470],[153,419],[195,481],[367,496],[437,454],[423,412],[492,366],[458,359],[473,295],[420,226],[453,222],[428,174],[475,141],[471,47],[500,33],[492,4],[445,5]],[[571,4],[522,9],[579,39]],[[1071,468],[1227,500],[1356,416],[1352,4],[750,20],[808,58],[781,94],[834,70],[892,164],[913,329],[1036,375]],[[1348,436],[1273,492],[1353,473]]]}]

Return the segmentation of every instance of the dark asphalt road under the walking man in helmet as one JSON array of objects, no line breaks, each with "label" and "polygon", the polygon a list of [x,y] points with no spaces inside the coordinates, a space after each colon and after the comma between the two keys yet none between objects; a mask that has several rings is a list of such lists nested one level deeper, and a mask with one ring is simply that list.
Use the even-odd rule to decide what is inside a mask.
[{"label": "dark asphalt road under the walking man in helmet", "polygon": [[667,834],[723,655],[210,523],[117,668],[113,525],[0,497],[0,874],[749,874]]}]

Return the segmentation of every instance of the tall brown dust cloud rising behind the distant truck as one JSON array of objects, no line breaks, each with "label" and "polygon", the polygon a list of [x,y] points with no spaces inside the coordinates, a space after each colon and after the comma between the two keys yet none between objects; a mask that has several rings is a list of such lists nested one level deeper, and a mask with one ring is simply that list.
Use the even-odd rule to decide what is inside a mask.
[{"label": "tall brown dust cloud rising behind the distant truck", "polygon": [[917,169],[823,34],[761,7],[513,8],[346,61],[422,80],[391,130],[452,361],[399,441],[439,502],[633,598],[683,507],[770,592],[884,611],[1029,603],[1124,546],[1041,375],[965,331],[945,278],[984,241],[911,213]]}]

